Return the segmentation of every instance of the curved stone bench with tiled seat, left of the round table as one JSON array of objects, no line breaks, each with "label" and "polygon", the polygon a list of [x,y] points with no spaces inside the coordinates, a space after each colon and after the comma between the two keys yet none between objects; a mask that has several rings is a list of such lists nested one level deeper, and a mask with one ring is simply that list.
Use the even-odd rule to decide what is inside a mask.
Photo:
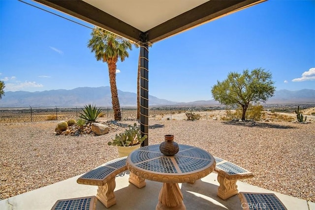
[{"label": "curved stone bench with tiled seat, left of the round table", "polygon": [[[116,204],[114,189],[115,177],[127,170],[126,158],[121,157],[95,168],[78,178],[77,183],[98,186],[96,197],[106,207]],[[145,180],[130,173],[129,182],[142,188],[146,185]]]}]

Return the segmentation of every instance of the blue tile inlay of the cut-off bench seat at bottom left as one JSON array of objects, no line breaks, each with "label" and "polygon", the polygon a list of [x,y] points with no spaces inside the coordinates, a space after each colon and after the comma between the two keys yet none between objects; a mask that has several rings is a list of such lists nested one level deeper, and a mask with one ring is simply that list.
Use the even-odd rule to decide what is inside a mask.
[{"label": "blue tile inlay of the cut-off bench seat at bottom left", "polygon": [[89,210],[92,198],[59,201],[54,210]]}]

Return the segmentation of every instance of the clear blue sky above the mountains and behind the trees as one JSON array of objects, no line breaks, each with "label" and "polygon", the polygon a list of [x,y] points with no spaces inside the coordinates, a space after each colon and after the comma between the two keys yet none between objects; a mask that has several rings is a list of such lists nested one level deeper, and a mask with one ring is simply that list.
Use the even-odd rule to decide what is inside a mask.
[{"label": "clear blue sky above the mountains and behind the trees", "polygon": [[[0,0],[4,91],[109,86],[107,64],[87,48],[90,33],[18,0]],[[136,92],[138,55],[133,48],[117,63],[119,90]],[[277,90],[315,89],[314,0],[268,0],[155,43],[149,94],[178,102],[209,100],[211,88],[229,72],[259,67],[272,73]]]}]

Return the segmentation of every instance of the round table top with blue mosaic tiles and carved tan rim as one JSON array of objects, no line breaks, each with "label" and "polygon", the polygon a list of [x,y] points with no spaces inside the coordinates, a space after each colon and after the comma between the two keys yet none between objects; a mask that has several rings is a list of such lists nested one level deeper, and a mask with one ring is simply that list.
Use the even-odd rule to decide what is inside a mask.
[{"label": "round table top with blue mosaic tiles and carved tan rim", "polygon": [[179,152],[173,156],[162,154],[159,145],[142,147],[128,155],[126,164],[139,177],[166,183],[199,180],[216,167],[209,152],[189,145],[179,145]]}]

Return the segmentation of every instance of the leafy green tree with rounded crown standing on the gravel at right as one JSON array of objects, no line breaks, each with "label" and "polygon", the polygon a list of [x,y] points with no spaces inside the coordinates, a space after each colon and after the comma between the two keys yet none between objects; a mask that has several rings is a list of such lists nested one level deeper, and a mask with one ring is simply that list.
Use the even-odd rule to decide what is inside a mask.
[{"label": "leafy green tree with rounded crown standing on the gravel at right", "polygon": [[271,80],[272,74],[262,68],[244,70],[243,74],[230,72],[227,79],[212,87],[213,98],[224,105],[242,107],[242,120],[245,120],[246,111],[251,102],[265,102],[274,95],[276,87]]}]

